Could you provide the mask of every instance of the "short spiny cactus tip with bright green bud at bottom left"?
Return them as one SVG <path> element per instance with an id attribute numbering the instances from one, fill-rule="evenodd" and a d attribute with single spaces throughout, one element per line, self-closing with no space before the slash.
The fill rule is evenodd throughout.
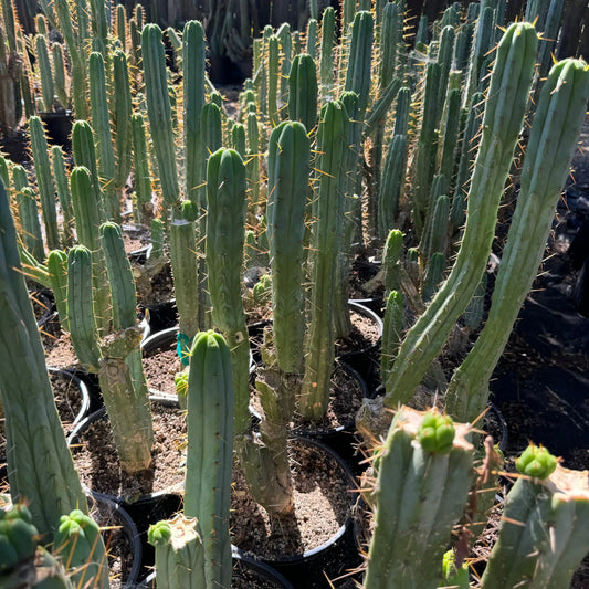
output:
<path id="1" fill-rule="evenodd" d="M 98 525 L 80 509 L 62 515 L 55 534 L 53 554 L 59 555 L 75 587 L 90 583 L 108 589 L 108 559 Z"/>

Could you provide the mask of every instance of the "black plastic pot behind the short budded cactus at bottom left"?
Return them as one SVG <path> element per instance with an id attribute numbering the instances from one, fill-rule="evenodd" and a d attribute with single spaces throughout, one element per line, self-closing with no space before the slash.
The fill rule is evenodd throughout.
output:
<path id="1" fill-rule="evenodd" d="M 92 506 L 93 502 L 94 506 Z M 103 539 L 109 554 L 113 553 L 111 548 L 113 534 L 122 534 L 124 536 L 123 546 L 120 547 L 122 554 L 115 555 L 119 557 L 122 566 L 120 587 L 122 589 L 134 589 L 137 587 L 143 566 L 143 547 L 135 522 L 117 503 L 104 498 L 97 499 L 96 497 L 90 497 L 88 503 L 91 503 L 94 519 L 104 528 L 102 533 Z"/>

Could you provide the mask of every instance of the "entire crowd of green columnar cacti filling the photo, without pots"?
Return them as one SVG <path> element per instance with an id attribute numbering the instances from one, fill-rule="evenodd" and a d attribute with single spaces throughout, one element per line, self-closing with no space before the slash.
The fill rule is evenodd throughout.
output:
<path id="1" fill-rule="evenodd" d="M 319 14 L 311 2 L 305 32 L 269 25 L 254 40 L 235 117 L 207 75 L 207 44 L 219 39 L 207 40 L 201 22 L 164 36 L 140 4 L 132 18 L 94 0 L 40 8 L 32 39 L 2 3 L 6 46 L 22 59 L 0 83 L 24 105 L 34 182 L 0 157 L 0 401 L 12 502 L 0 509 L 0 580 L 17 587 L 25 571 L 44 587 L 51 569 L 55 586 L 108 587 L 25 275 L 52 291 L 81 368 L 98 377 L 122 469 L 149 469 L 138 293 L 122 229 L 132 219 L 169 259 L 187 367 L 178 379 L 183 508 L 149 530 L 157 586 L 231 586 L 234 455 L 270 519 L 293 514 L 293 422 L 327 413 L 335 341 L 351 330 L 350 266 L 369 251 L 382 260 L 385 393 L 361 411 L 371 471 L 360 492 L 372 513 L 361 583 L 469 587 L 471 529 L 486 522 L 503 470 L 473 423 L 541 261 L 589 99 L 582 60 L 550 67 L 562 1 L 530 2 L 513 24 L 501 0 L 451 4 L 431 24 L 422 17 L 410 46 L 402 0 L 344 0 L 338 23 L 334 8 Z M 38 116 L 60 107 L 75 117 L 71 167 Z M 15 116 L 3 99 L 2 125 L 13 128 Z M 517 203 L 480 328 L 476 297 L 509 175 Z M 252 296 L 272 307 L 255 387 L 243 301 L 252 265 L 266 273 Z M 476 340 L 446 381 L 437 357 L 459 322 Z M 414 409 L 432 379 L 443 414 Z M 481 587 L 570 583 L 589 550 L 589 487 L 587 473 L 557 462 L 534 445 L 517 461 Z"/>

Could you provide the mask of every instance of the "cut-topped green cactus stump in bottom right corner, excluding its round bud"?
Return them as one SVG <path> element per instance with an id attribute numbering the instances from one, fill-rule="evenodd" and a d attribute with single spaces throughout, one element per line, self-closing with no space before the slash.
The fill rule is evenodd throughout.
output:
<path id="1" fill-rule="evenodd" d="M 516 481 L 505 501 L 483 589 L 570 587 L 589 550 L 587 474 L 557 465 L 543 481 Z"/>

